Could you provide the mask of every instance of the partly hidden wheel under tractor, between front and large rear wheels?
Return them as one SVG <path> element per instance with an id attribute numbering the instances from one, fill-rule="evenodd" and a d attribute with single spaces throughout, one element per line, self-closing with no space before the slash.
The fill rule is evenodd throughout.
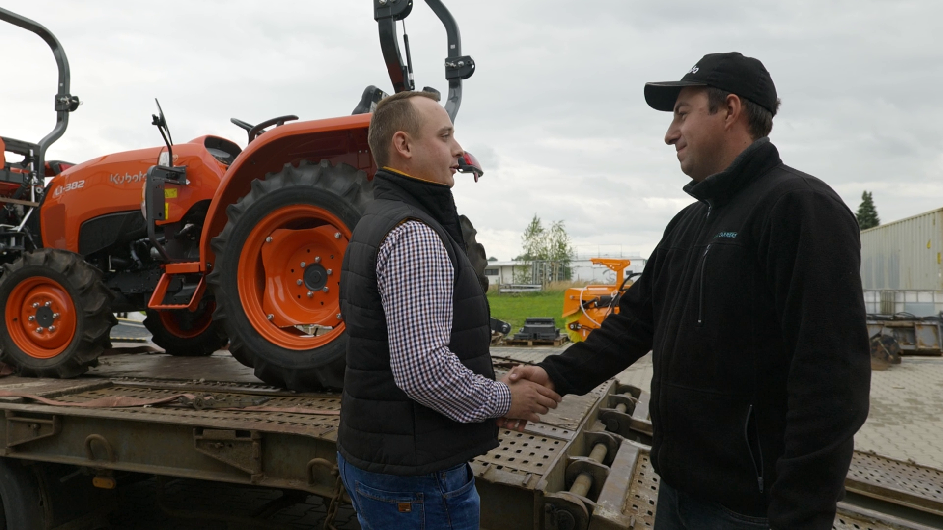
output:
<path id="1" fill-rule="evenodd" d="M 204 298 L 195 312 L 148 309 L 144 327 L 151 332 L 151 341 L 172 356 L 209 356 L 229 342 L 223 324 L 212 320 L 215 306 Z"/>

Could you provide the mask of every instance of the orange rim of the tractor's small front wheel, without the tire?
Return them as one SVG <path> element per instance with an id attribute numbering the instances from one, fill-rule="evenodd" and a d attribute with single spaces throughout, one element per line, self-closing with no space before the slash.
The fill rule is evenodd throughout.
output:
<path id="1" fill-rule="evenodd" d="M 5 315 L 10 339 L 27 356 L 58 356 L 75 335 L 72 297 L 52 278 L 33 276 L 17 284 L 9 293 Z"/>

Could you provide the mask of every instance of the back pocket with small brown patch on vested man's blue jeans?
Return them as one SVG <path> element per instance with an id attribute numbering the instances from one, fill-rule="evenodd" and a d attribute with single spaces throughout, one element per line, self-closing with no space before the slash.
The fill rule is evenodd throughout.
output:
<path id="1" fill-rule="evenodd" d="M 425 529 L 421 492 L 384 491 L 359 481 L 354 485 L 358 515 L 370 524 L 372 530 Z"/>

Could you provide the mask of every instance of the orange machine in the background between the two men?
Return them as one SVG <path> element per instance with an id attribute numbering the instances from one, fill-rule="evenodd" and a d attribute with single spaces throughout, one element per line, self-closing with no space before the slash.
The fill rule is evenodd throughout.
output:
<path id="1" fill-rule="evenodd" d="M 604 265 L 616 273 L 615 285 L 587 285 L 571 287 L 563 293 L 563 319 L 567 324 L 570 340 L 586 340 L 589 332 L 603 324 L 605 317 L 619 313 L 619 300 L 626 289 L 632 287 L 632 278 L 639 273 L 625 276 L 628 259 L 593 257 L 595 265 Z"/>

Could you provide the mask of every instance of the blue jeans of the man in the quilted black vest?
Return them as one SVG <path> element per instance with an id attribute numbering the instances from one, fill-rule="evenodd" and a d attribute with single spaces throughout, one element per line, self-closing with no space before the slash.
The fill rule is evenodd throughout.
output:
<path id="1" fill-rule="evenodd" d="M 481 498 L 467 463 L 399 476 L 365 472 L 338 454 L 338 469 L 363 530 L 478 530 Z"/>

